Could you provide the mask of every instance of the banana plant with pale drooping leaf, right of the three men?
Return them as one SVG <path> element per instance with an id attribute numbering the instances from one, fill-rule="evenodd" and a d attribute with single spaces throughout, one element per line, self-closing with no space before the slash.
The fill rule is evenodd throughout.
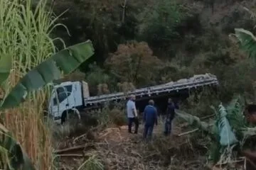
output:
<path id="1" fill-rule="evenodd" d="M 239 126 L 242 123 L 242 104 L 239 104 L 240 100 L 235 98 L 228 106 L 224 107 L 222 103 L 218 108 L 213 108 L 215 111 L 215 120 L 212 124 L 203 122 L 200 118 L 184 113 L 183 111 L 176 110 L 178 117 L 186 120 L 189 125 L 196 126 L 196 128 L 203 130 L 211 139 L 209 158 L 214 163 L 220 160 L 220 157 L 224 157 L 227 152 L 233 149 L 233 146 L 238 145 L 240 138 L 237 138 L 235 130 L 242 131 Z M 235 118 L 233 118 L 235 117 Z M 230 121 L 229 118 L 233 118 Z M 242 125 L 244 127 L 245 125 Z M 235 131 L 235 132 L 234 132 Z M 242 140 L 242 138 L 241 138 Z"/>

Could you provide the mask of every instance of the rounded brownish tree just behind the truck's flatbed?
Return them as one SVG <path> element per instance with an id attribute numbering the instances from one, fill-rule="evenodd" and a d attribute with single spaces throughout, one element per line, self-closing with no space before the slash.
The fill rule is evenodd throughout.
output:
<path id="1" fill-rule="evenodd" d="M 161 61 L 153 55 L 146 42 L 128 42 L 118 45 L 105 65 L 120 81 L 134 85 L 149 84 L 157 77 Z"/>

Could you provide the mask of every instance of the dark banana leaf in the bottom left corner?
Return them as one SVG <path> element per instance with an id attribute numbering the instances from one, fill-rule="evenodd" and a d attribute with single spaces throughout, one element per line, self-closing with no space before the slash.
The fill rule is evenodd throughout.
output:
<path id="1" fill-rule="evenodd" d="M 1 162 L 2 166 L 5 166 L 6 169 L 21 169 L 21 170 L 34 170 L 31 159 L 28 158 L 26 152 L 23 152 L 21 145 L 11 137 L 10 133 L 4 125 L 0 124 L 0 147 L 7 152 L 8 161 Z"/>

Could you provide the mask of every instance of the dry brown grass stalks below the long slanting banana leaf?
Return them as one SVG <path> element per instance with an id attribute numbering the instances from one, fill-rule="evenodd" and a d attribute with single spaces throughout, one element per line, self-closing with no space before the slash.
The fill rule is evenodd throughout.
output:
<path id="1" fill-rule="evenodd" d="M 53 159 L 51 135 L 43 123 L 40 101 L 27 101 L 19 108 L 6 111 L 4 125 L 21 143 L 38 169 L 50 169 Z"/>

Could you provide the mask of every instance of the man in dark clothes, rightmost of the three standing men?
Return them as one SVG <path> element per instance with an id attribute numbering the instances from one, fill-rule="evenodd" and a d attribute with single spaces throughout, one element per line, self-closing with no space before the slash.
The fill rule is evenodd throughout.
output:
<path id="1" fill-rule="evenodd" d="M 164 124 L 164 135 L 171 134 L 171 125 L 175 116 L 175 109 L 178 109 L 178 106 L 174 103 L 174 101 L 171 100 L 171 98 L 169 98 L 166 111 L 166 120 Z"/>

